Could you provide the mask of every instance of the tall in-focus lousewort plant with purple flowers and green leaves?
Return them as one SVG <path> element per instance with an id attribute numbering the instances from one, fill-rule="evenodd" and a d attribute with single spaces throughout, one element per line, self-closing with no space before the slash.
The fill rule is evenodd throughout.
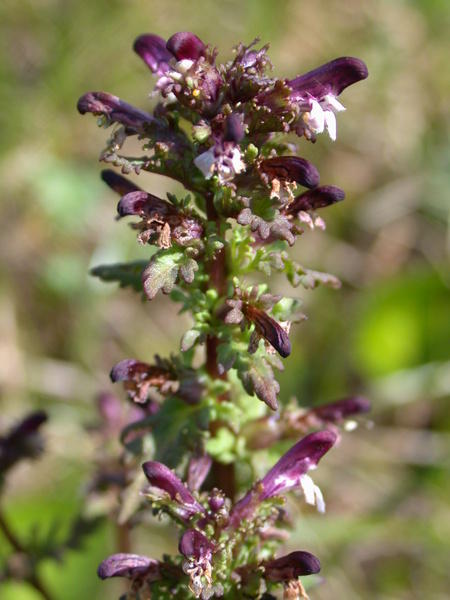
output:
<path id="1" fill-rule="evenodd" d="M 125 175 L 171 177 L 186 193 L 159 198 L 116 170 L 102 172 L 120 198 L 117 218 L 135 218 L 150 258 L 93 274 L 148 300 L 168 294 L 192 317 L 179 355 L 113 367 L 112 381 L 134 406 L 129 414 L 112 395 L 99 405 L 103 435 L 120 433 L 124 454 L 102 482 L 121 494 L 120 552 L 98 575 L 129 579 L 129 599 L 305 598 L 300 578 L 320 563 L 305 550 L 279 552 L 293 520 L 286 494 L 325 510 L 310 471 L 338 440 L 337 425 L 369 409 L 360 397 L 313 409 L 279 405 L 275 370 L 291 353 L 291 324 L 305 316 L 298 300 L 272 294 L 265 282 L 280 273 L 294 287 L 339 287 L 288 250 L 305 227 L 325 227 L 322 209 L 344 192 L 320 185 L 316 167 L 283 136 L 314 142 L 326 130 L 335 140 L 336 113 L 345 110 L 338 98 L 367 68 L 344 57 L 277 79 L 268 46 L 257 43 L 240 44 L 218 64 L 216 49 L 193 33 L 141 35 L 134 50 L 156 78 L 153 111 L 106 92 L 78 101 L 81 114 L 112 126 L 103 162 Z M 141 156 L 123 153 L 128 138 Z M 264 452 L 271 447 L 273 456 L 289 440 L 278 462 Z M 178 524 L 178 554 L 131 553 L 130 529 L 148 505 Z"/>

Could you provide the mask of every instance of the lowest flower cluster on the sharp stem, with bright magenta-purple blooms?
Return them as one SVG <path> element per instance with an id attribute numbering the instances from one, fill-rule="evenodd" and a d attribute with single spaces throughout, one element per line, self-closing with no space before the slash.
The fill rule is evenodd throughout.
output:
<path id="1" fill-rule="evenodd" d="M 182 598 L 182 590 L 187 586 L 196 598 L 203 600 L 212 596 L 231 597 L 227 594 L 233 589 L 242 597 L 255 597 L 255 593 L 259 597 L 280 583 L 286 589 L 292 588 L 299 576 L 318 573 L 320 562 L 305 551 L 265 558 L 273 540 L 283 537 L 285 509 L 281 503 L 273 504 L 270 500 L 282 500 L 286 492 L 299 488 L 307 503 L 316 504 L 323 511 L 322 493 L 308 471 L 317 467 L 335 441 L 336 434 L 331 431 L 303 438 L 234 505 L 216 488 L 196 493 L 202 478 L 194 485 L 191 482 L 193 489 L 189 489 L 163 464 L 144 463 L 142 468 L 150 483 L 144 495 L 157 510 L 173 516 L 183 530 L 178 545 L 180 556 L 160 561 L 135 554 L 114 554 L 101 563 L 99 576 L 131 579 L 136 598 L 144 590 L 151 595 L 153 589 Z M 206 474 L 203 472 L 202 476 Z M 248 562 L 242 564 L 238 557 L 244 553 Z M 255 589 L 255 572 L 260 575 L 258 589 Z"/>

